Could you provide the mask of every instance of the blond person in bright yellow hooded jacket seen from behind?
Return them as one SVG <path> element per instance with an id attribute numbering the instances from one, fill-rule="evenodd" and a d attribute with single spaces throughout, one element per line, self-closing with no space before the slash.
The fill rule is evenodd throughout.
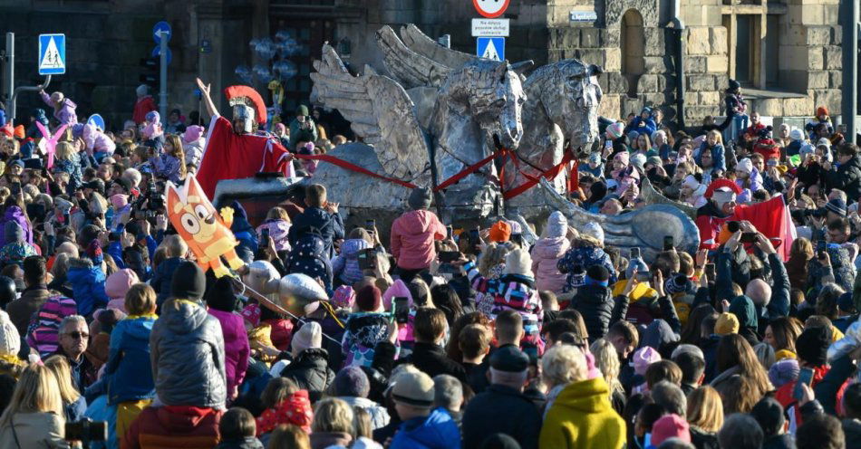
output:
<path id="1" fill-rule="evenodd" d="M 555 346 L 542 359 L 542 368 L 544 375 L 551 377 L 551 384 L 567 382 L 548 395 L 547 416 L 538 440 L 540 449 L 624 447 L 624 420 L 610 404 L 610 390 L 604 377 L 586 378 L 592 376 L 588 375 L 585 355 L 580 349 Z"/>

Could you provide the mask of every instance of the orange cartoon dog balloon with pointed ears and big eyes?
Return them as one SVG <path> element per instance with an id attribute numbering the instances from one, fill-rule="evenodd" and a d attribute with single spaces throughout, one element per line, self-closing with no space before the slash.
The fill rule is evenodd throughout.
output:
<path id="1" fill-rule="evenodd" d="M 208 268 L 219 278 L 229 275 L 227 267 L 221 263 L 221 256 L 233 270 L 245 263 L 236 252 L 236 237 L 230 232 L 233 224 L 233 209 L 222 207 L 218 215 L 209 198 L 203 193 L 197 178 L 186 177 L 185 186 L 178 188 L 168 182 L 168 216 L 182 240 L 189 244 L 191 252 L 198 259 L 204 272 Z"/>

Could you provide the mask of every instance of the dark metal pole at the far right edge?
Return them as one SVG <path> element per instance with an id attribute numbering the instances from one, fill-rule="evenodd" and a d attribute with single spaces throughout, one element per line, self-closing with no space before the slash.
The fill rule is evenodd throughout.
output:
<path id="1" fill-rule="evenodd" d="M 843 0 L 843 123 L 846 141 L 856 142 L 858 101 L 858 0 Z"/>

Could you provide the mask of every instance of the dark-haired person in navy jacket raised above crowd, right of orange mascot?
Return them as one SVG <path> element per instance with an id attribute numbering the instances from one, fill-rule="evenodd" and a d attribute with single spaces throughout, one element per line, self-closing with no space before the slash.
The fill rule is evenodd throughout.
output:
<path id="1" fill-rule="evenodd" d="M 319 184 L 305 190 L 305 204 L 308 208 L 295 216 L 287 238 L 291 245 L 295 245 L 302 234 L 315 229 L 323 236 L 325 253 L 331 259 L 334 257 L 334 241 L 343 239 L 343 219 L 338 215 L 338 205 L 326 200 L 326 188 Z"/>

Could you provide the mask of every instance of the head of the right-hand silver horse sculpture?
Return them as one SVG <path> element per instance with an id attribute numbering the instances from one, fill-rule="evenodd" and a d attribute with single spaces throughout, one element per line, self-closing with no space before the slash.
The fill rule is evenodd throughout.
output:
<path id="1" fill-rule="evenodd" d="M 577 157 L 592 149 L 598 136 L 598 107 L 603 95 L 596 65 L 574 59 L 545 65 L 531 75 L 524 88 L 550 122 L 556 124 Z"/>

